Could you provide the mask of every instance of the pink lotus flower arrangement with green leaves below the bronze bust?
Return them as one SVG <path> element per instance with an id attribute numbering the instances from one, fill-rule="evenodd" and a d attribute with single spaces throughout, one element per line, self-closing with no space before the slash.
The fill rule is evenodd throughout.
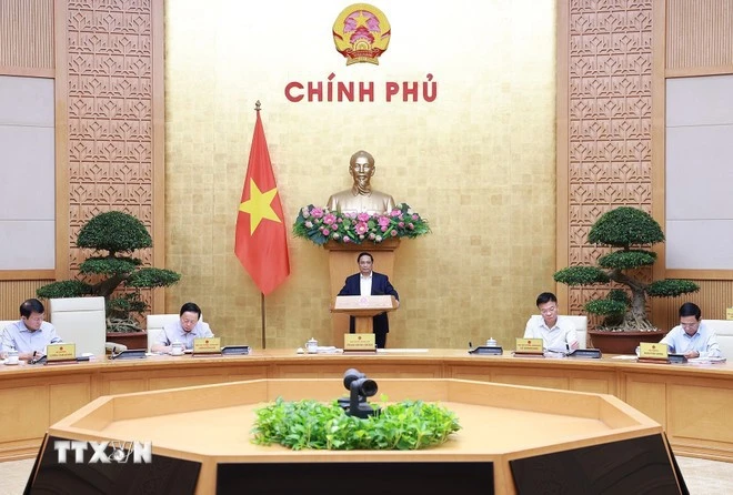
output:
<path id="1" fill-rule="evenodd" d="M 398 204 L 389 213 L 341 213 L 327 208 L 303 206 L 293 224 L 293 234 L 318 245 L 327 241 L 379 244 L 385 239 L 413 239 L 430 233 L 428 221 L 409 204 Z"/>

